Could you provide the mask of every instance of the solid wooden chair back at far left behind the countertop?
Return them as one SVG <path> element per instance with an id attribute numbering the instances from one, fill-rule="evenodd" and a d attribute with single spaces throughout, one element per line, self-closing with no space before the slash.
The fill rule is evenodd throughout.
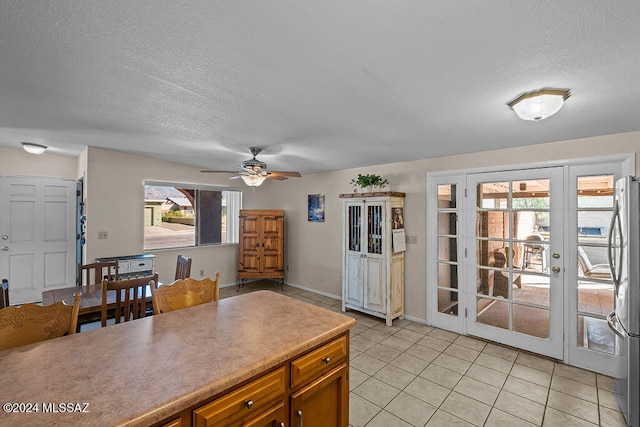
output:
<path id="1" fill-rule="evenodd" d="M 79 310 L 80 292 L 74 294 L 72 306 L 57 302 L 44 307 L 23 304 L 1 309 L 0 350 L 75 334 Z"/>

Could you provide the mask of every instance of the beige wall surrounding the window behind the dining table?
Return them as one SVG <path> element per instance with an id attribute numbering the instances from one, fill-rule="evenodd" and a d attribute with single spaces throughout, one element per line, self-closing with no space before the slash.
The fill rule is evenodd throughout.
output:
<path id="1" fill-rule="evenodd" d="M 89 147 L 85 181 L 87 261 L 144 252 L 145 180 L 229 186 L 224 175 L 203 174 L 193 166 Z M 99 231 L 106 231 L 109 237 L 98 240 Z M 193 258 L 192 277 L 214 277 L 220 271 L 220 283 L 224 285 L 235 283 L 237 250 L 237 245 L 225 245 L 149 252 L 156 255 L 156 271 L 163 283 L 173 281 L 177 255 L 183 254 Z"/>

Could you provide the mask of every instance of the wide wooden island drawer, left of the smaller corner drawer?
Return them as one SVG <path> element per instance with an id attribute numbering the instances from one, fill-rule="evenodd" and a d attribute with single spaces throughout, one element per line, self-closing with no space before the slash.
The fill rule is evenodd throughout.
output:
<path id="1" fill-rule="evenodd" d="M 229 426 L 250 419 L 262 408 L 284 399 L 285 370 L 280 368 L 193 411 L 195 426 Z"/>

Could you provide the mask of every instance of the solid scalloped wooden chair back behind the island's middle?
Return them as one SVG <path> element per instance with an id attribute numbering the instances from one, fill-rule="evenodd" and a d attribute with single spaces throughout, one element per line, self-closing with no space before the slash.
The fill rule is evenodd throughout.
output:
<path id="1" fill-rule="evenodd" d="M 152 288 L 153 313 L 161 314 L 180 310 L 194 305 L 218 301 L 220 272 L 216 271 L 216 279 L 205 277 L 202 280 L 192 278 L 178 279 L 170 285 Z"/>

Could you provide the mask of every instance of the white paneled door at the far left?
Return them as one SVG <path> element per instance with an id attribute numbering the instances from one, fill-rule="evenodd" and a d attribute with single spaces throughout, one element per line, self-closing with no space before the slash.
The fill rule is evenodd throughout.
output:
<path id="1" fill-rule="evenodd" d="M 76 182 L 0 177 L 0 277 L 12 305 L 75 283 Z"/>

